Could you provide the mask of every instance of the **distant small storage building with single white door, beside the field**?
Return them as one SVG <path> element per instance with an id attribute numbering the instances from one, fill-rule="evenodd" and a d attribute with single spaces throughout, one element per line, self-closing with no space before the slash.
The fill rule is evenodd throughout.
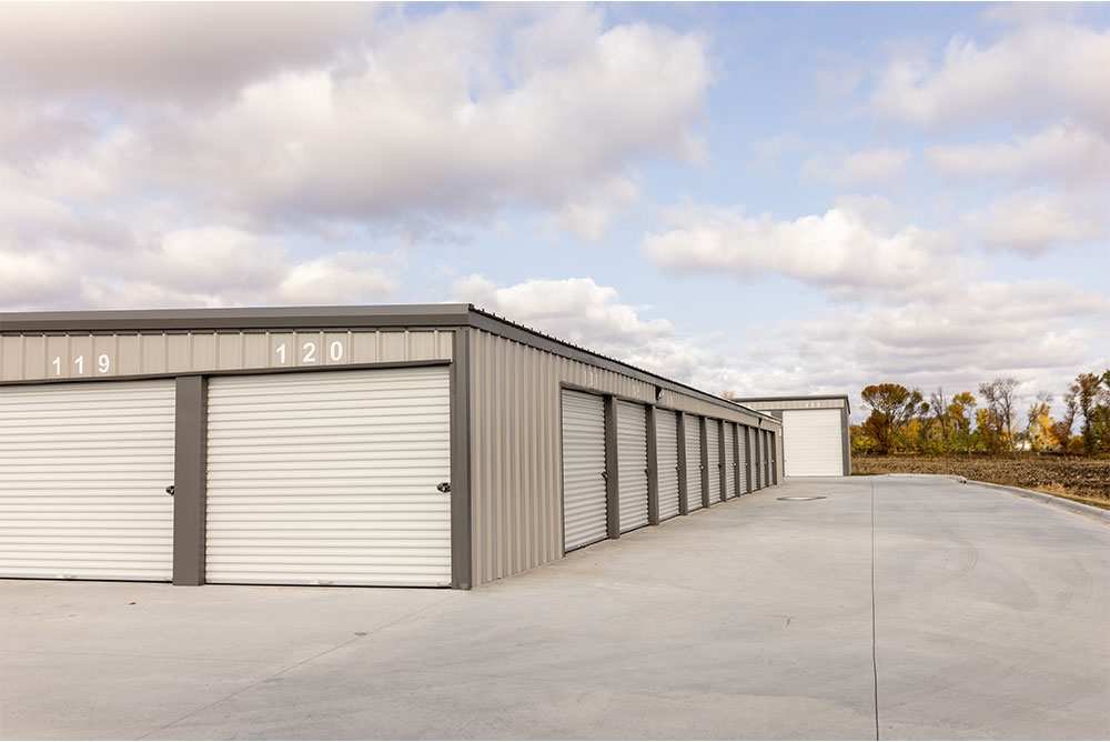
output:
<path id="1" fill-rule="evenodd" d="M 758 397 L 736 400 L 783 422 L 786 477 L 851 475 L 847 394 Z"/>

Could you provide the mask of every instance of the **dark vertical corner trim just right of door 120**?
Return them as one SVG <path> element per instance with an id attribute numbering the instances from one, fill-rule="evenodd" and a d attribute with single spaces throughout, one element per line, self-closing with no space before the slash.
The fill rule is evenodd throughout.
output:
<path id="1" fill-rule="evenodd" d="M 451 339 L 451 586 L 474 586 L 471 523 L 471 342 L 470 330 Z"/>

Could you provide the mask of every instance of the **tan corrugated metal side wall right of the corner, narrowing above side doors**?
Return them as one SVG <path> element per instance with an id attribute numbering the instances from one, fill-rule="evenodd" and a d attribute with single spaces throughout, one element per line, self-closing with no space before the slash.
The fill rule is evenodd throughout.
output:
<path id="1" fill-rule="evenodd" d="M 471 329 L 471 519 L 475 585 L 563 556 L 559 384 L 751 421 L 739 408 Z M 700 493 L 700 488 L 698 489 Z"/>

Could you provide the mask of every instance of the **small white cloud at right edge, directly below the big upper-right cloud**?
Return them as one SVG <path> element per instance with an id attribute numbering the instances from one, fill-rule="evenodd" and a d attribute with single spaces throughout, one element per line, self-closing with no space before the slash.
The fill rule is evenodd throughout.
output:
<path id="1" fill-rule="evenodd" d="M 991 178 L 1026 183 L 1110 181 L 1110 141 L 1091 129 L 1066 123 L 1031 137 L 1015 137 L 1007 143 L 930 147 L 925 151 L 925 160 L 934 172 L 949 181 Z"/>

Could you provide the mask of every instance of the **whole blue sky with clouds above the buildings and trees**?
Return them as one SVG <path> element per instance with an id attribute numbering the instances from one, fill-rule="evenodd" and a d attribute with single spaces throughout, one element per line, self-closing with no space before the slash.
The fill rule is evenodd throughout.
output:
<path id="1" fill-rule="evenodd" d="M 1110 368 L 1107 3 L 0 4 L 0 309 L 468 302 L 705 391 Z"/>

